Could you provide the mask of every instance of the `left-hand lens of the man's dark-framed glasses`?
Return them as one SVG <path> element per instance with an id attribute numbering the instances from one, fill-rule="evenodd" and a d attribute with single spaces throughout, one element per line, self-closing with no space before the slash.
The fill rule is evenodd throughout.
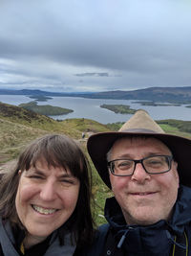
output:
<path id="1" fill-rule="evenodd" d="M 114 175 L 132 175 L 134 172 L 133 160 L 115 160 L 112 162 L 112 171 Z"/>

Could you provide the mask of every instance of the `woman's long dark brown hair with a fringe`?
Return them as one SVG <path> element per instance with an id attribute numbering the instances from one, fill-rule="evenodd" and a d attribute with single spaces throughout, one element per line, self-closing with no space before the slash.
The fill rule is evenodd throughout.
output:
<path id="1" fill-rule="evenodd" d="M 15 168 L 1 176 L 0 216 L 11 224 L 21 225 L 16 214 L 15 197 L 19 184 L 18 171 L 28 171 L 38 160 L 45 159 L 48 166 L 69 169 L 80 181 L 79 195 L 70 219 L 59 228 L 64 237 L 66 227 L 74 234 L 78 247 L 91 244 L 94 221 L 91 214 L 92 178 L 89 162 L 73 139 L 66 135 L 49 134 L 37 138 L 20 154 Z"/>

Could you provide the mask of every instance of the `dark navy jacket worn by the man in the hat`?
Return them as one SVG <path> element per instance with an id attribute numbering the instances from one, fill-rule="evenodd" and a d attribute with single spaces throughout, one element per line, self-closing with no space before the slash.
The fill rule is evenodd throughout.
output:
<path id="1" fill-rule="evenodd" d="M 191 188 L 180 186 L 170 221 L 127 225 L 115 198 L 106 200 L 105 218 L 108 224 L 100 227 L 94 246 L 85 255 L 191 256 Z"/>

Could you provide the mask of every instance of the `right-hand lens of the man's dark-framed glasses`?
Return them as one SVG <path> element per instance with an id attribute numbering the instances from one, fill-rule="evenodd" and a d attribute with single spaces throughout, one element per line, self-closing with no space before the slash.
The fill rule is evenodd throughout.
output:
<path id="1" fill-rule="evenodd" d="M 151 174 L 164 173 L 170 169 L 169 157 L 166 155 L 147 157 L 142 163 L 146 171 Z"/>

